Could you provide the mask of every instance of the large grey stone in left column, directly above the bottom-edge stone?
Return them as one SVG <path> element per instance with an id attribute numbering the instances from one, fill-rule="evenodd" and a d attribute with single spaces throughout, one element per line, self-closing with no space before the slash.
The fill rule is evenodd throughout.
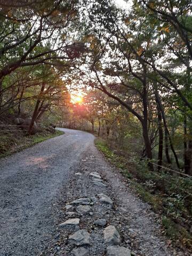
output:
<path id="1" fill-rule="evenodd" d="M 73 235 L 69 236 L 69 243 L 77 246 L 89 245 L 90 234 L 85 230 L 81 229 L 76 231 Z"/>

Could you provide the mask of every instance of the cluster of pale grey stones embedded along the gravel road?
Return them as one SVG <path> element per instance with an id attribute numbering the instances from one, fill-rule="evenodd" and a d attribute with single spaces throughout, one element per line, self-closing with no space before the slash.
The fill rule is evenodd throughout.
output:
<path id="1" fill-rule="evenodd" d="M 101 179 L 101 176 L 98 173 L 90 173 L 89 176 L 92 178 L 93 184 L 96 186 L 103 186 L 106 187 L 105 183 Z M 90 255 L 88 247 L 91 246 L 90 244 L 90 233 L 86 229 L 81 229 L 79 225 L 83 222 L 83 217 L 85 215 L 92 216 L 92 205 L 95 203 L 100 202 L 108 207 L 109 211 L 113 207 L 113 201 L 111 198 L 103 193 L 97 194 L 92 198 L 78 198 L 75 201 L 67 204 L 66 208 L 66 215 L 70 215 L 68 210 L 73 209 L 71 211 L 71 215 L 77 215 L 76 218 L 69 218 L 65 222 L 59 225 L 59 228 L 68 228 L 74 227 L 78 229 L 68 237 L 68 243 L 74 247 L 71 250 L 72 255 L 74 256 L 86 256 Z M 81 220 L 77 218 L 81 216 Z M 93 217 L 94 218 L 94 217 Z M 93 219 L 92 218 L 92 219 Z M 92 220 L 93 228 L 97 230 L 97 227 L 103 229 L 102 231 L 102 239 L 103 244 L 106 246 L 106 255 L 107 256 L 131 256 L 131 251 L 124 246 L 119 246 L 121 244 L 121 236 L 119 235 L 118 230 L 114 225 L 107 225 L 106 219 L 99 218 Z M 108 223 L 109 224 L 109 223 Z M 97 243 L 97 241 L 95 242 Z M 87 247 L 88 246 L 88 247 Z"/>

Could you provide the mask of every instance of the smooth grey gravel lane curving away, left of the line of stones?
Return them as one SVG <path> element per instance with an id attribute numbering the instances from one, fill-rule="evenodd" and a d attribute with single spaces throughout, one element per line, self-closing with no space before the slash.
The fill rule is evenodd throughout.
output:
<path id="1" fill-rule="evenodd" d="M 37 255 L 50 239 L 51 205 L 94 145 L 90 133 L 60 130 L 65 134 L 0 161 L 1 256 Z"/>

